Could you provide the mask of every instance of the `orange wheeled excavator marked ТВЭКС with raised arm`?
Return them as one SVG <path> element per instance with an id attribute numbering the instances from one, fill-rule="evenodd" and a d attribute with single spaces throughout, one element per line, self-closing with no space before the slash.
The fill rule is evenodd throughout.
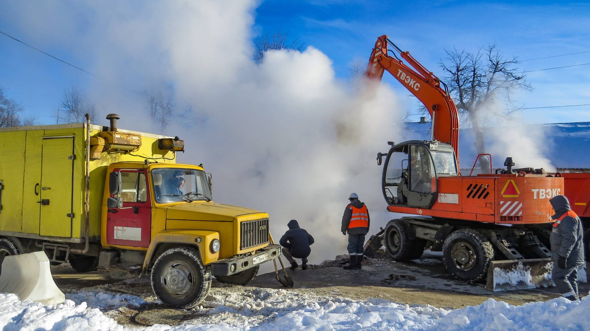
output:
<path id="1" fill-rule="evenodd" d="M 535 229 L 552 223 L 549 199 L 562 194 L 563 178 L 513 170 L 512 158 L 493 173 L 489 154 L 478 155 L 463 176 L 457 107 L 444 82 L 382 35 L 366 77 L 381 81 L 385 71 L 428 108 L 432 129 L 428 141 L 390 141 L 389 151 L 378 154 L 387 210 L 411 216 L 389 221 L 365 244 L 366 253 L 385 246 L 392 259 L 404 261 L 425 249 L 442 251 L 448 272 L 467 282 L 487 279 L 489 290 L 552 286 L 551 253 Z M 482 157 L 490 169 L 471 176 Z"/>

